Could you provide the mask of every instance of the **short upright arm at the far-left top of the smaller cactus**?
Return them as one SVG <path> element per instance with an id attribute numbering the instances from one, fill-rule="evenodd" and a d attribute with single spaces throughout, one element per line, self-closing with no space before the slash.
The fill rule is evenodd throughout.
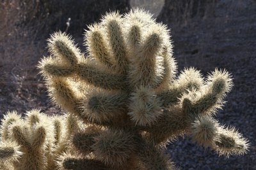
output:
<path id="1" fill-rule="evenodd" d="M 4 115 L 4 118 L 2 119 L 2 124 L 0 126 L 1 140 L 10 139 L 10 136 L 8 136 L 8 127 L 10 127 L 12 123 L 17 122 L 20 119 L 21 116 L 18 115 L 17 111 L 8 111 L 6 115 Z"/>

